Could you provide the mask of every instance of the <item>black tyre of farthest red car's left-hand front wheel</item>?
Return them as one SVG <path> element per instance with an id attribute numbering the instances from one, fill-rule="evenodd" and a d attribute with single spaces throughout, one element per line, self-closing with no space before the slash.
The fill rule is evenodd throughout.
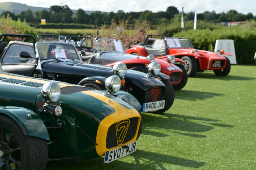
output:
<path id="1" fill-rule="evenodd" d="M 186 64 L 182 64 L 187 71 L 188 77 L 193 77 L 196 74 L 197 64 L 194 57 L 184 56 L 181 58 Z"/>

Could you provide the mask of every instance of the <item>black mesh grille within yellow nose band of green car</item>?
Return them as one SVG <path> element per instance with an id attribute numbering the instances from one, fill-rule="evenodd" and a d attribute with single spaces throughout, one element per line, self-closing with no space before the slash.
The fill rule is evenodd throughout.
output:
<path id="1" fill-rule="evenodd" d="M 124 138 L 124 141 L 122 143 L 129 142 L 130 140 L 132 140 L 134 138 L 134 136 L 136 134 L 138 118 L 137 117 L 130 118 L 129 120 L 130 120 L 130 124 L 129 124 L 128 130 L 127 130 L 126 136 Z M 126 120 L 123 120 L 123 121 L 126 121 Z M 107 140 L 106 140 L 106 148 L 107 149 L 119 146 L 117 143 L 116 125 L 117 125 L 117 123 L 112 124 L 109 127 L 109 130 L 107 133 Z M 121 131 L 122 131 L 122 129 L 118 132 L 118 137 L 121 134 Z"/>

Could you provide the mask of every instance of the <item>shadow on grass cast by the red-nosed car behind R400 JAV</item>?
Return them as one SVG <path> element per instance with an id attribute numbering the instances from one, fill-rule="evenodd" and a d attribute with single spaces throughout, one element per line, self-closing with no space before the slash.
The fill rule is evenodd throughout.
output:
<path id="1" fill-rule="evenodd" d="M 213 97 L 223 96 L 224 94 L 220 93 L 211 93 L 211 92 L 200 92 L 200 91 L 192 91 L 192 90 L 176 90 L 175 91 L 175 99 L 181 100 L 205 100 Z"/>

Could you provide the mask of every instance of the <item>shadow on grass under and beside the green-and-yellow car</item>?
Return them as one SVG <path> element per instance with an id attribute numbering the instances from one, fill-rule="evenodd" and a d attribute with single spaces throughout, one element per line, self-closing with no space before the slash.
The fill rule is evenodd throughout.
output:
<path id="1" fill-rule="evenodd" d="M 193 161 L 189 159 L 153 153 L 143 150 L 137 150 L 136 152 L 130 154 L 130 158 L 133 157 L 135 162 L 128 158 L 130 162 L 123 162 L 121 160 L 116 160 L 111 163 L 103 165 L 104 158 L 94 158 L 90 160 L 61 160 L 61 161 L 51 161 L 47 163 L 46 170 L 98 170 L 98 169 L 108 169 L 108 170 L 154 170 L 161 169 L 167 170 L 165 164 L 173 164 L 182 167 L 200 168 L 205 165 L 204 162 Z"/>

